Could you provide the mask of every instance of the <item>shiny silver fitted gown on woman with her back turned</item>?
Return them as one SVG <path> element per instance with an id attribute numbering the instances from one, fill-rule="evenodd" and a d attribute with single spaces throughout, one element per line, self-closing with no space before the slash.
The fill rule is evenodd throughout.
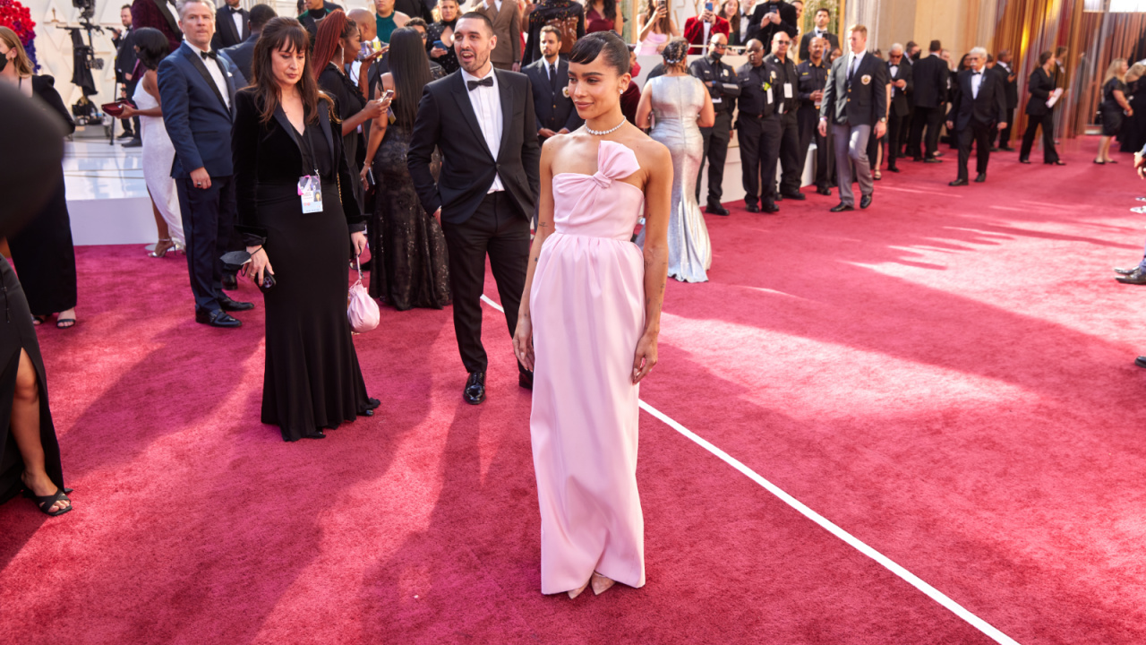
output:
<path id="1" fill-rule="evenodd" d="M 682 282 L 706 282 L 713 264 L 708 227 L 697 203 L 697 176 L 704 157 L 697 116 L 705 106 L 704 84 L 691 76 L 658 76 L 652 86 L 650 133 L 673 154 L 673 211 L 668 220 L 668 274 Z M 637 238 L 644 246 L 644 232 Z"/>

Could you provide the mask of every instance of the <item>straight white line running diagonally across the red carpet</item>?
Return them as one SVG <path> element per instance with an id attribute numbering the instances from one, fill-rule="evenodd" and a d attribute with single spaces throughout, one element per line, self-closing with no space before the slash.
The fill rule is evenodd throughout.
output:
<path id="1" fill-rule="evenodd" d="M 484 300 L 486 302 L 486 304 L 488 304 L 489 306 L 496 309 L 497 311 L 501 311 L 502 313 L 505 312 L 505 310 L 502 309 L 502 306 L 500 304 L 497 304 L 496 302 L 494 302 L 494 301 L 489 300 L 488 297 L 486 297 L 485 294 L 481 294 L 481 300 Z M 639 405 L 641 405 L 641 407 L 645 412 L 652 414 L 657 419 L 660 419 L 668 427 L 673 428 L 674 430 L 676 430 L 676 432 L 681 433 L 682 435 L 684 435 L 685 437 L 690 438 L 693 443 L 696 443 L 700 448 L 704 448 L 708 452 L 712 452 L 713 454 L 715 454 L 717 458 L 720 458 L 722 461 L 724 461 L 729 466 L 732 466 L 737 471 L 740 471 L 741 474 L 744 474 L 749 480 L 752 480 L 752 481 L 756 482 L 758 484 L 760 484 L 761 487 L 763 487 L 764 490 L 767 490 L 768 492 L 775 495 L 777 498 L 779 498 L 780 502 L 787 504 L 792 508 L 795 508 L 801 515 L 803 515 L 804 518 L 808 518 L 809 520 L 816 522 L 817 524 L 819 524 L 821 528 L 823 528 L 827 533 L 834 535 L 835 537 L 842 539 L 843 542 L 846 542 L 847 544 L 849 544 L 856 551 L 863 553 L 864 555 L 871 558 L 872 560 L 876 560 L 884 568 L 886 568 L 887 570 L 892 572 L 893 574 L 900 576 L 901 578 L 903 578 L 904 581 L 906 581 L 909 584 L 911 584 L 911 586 L 915 586 L 919 591 L 923 591 L 932 600 L 935 600 L 940 605 L 947 607 L 951 613 L 953 613 L 955 615 L 959 616 L 960 619 L 963 619 L 964 621 L 966 621 L 967 623 L 970 623 L 972 627 L 974 627 L 979 631 L 986 634 L 989 638 L 991 638 L 996 643 L 1002 643 L 1004 645 L 1019 645 L 1018 642 L 1015 642 L 1013 638 L 1011 638 L 1010 636 L 1003 634 L 1002 631 L 999 631 L 998 629 L 996 629 L 995 627 L 992 627 L 990 623 L 988 623 L 983 619 L 981 619 L 981 617 L 976 616 L 975 614 L 971 613 L 963 605 L 956 603 L 955 600 L 951 600 L 943 592 L 941 592 L 940 590 L 935 589 L 934 586 L 932 586 L 932 585 L 927 584 L 926 582 L 924 582 L 923 580 L 920 580 L 919 576 L 917 576 L 916 574 L 913 574 L 913 573 L 909 572 L 908 569 L 901 567 L 900 565 L 895 564 L 887 555 L 884 555 L 879 551 L 876 551 L 871 546 L 868 546 L 859 538 L 855 537 L 854 535 L 849 534 L 848 531 L 846 531 L 846 530 L 841 529 L 840 527 L 835 526 L 834 523 L 832 523 L 832 521 L 829 520 L 827 518 L 825 518 L 825 516 L 821 515 L 819 513 L 813 511 L 811 508 L 804 506 L 803 503 L 801 503 L 799 499 L 796 499 L 796 498 L 792 497 L 791 495 L 784 492 L 779 487 L 777 487 L 772 482 L 766 480 L 764 477 L 760 476 L 760 474 L 758 474 L 752 468 L 749 468 L 749 467 L 745 466 L 744 464 L 741 464 L 738 459 L 736 459 L 731 454 L 729 454 L 729 453 L 724 452 L 723 450 L 716 448 L 715 445 L 713 445 L 712 443 L 709 443 L 704 437 L 697 435 L 692 430 L 690 430 L 690 429 L 685 428 L 684 426 L 682 426 L 681 423 L 676 422 L 672 417 L 669 417 L 669 415 L 665 414 L 664 412 L 661 412 L 660 410 L 657 410 L 656 407 L 649 405 L 644 401 L 641 401 Z"/>

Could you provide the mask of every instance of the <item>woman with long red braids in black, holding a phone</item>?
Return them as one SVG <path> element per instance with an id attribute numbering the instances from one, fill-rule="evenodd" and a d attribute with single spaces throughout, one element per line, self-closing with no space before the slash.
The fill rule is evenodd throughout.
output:
<path id="1" fill-rule="evenodd" d="M 346 64 L 354 62 L 361 46 L 358 24 L 347 20 L 342 9 L 331 11 L 319 23 L 314 60 L 320 64 L 312 69 L 319 76 L 319 90 L 335 100 L 335 116 L 343 122 L 343 153 L 354 177 L 359 174 L 359 154 L 364 148 L 360 141 L 359 126 L 383 114 L 382 103 L 367 101 L 362 90 L 351 83 L 346 73 Z M 321 64 L 322 61 L 325 64 Z M 354 182 L 354 197 L 360 204 L 366 203 L 364 191 L 358 181 Z"/>

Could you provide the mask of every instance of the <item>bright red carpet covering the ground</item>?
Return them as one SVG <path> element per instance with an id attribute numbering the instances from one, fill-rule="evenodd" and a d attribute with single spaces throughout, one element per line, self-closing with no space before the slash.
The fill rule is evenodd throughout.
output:
<path id="1" fill-rule="evenodd" d="M 709 217 L 643 398 L 1019 643 L 1144 642 L 1146 290 L 1110 266 L 1141 257 L 1146 182 L 1096 146 Z M 40 332 L 76 510 L 0 506 L 0 643 L 990 642 L 646 413 L 649 584 L 543 597 L 496 312 L 484 405 L 448 310 L 384 309 L 356 337 L 379 415 L 286 444 L 261 304 L 210 329 L 181 256 L 78 259 L 80 324 Z"/>

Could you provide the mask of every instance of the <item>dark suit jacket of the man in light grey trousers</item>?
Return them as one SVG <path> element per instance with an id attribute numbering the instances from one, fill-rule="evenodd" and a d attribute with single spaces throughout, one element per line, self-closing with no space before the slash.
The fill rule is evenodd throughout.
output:
<path id="1" fill-rule="evenodd" d="M 887 63 L 868 52 L 849 80 L 850 61 L 848 53 L 832 63 L 819 115 L 826 117 L 829 123 L 847 123 L 851 127 L 874 126 L 887 115 Z"/>

